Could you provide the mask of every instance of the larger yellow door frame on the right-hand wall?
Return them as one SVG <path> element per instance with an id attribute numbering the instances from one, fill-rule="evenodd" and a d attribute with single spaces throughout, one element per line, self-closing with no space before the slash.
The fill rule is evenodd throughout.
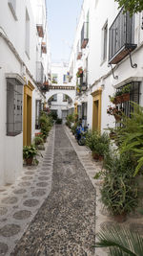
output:
<path id="1" fill-rule="evenodd" d="M 101 130 L 102 89 L 92 92 L 92 130 Z"/>

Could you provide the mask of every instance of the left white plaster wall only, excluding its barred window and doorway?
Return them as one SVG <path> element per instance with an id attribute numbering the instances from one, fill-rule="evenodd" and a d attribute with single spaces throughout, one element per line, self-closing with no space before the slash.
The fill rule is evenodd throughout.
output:
<path id="1" fill-rule="evenodd" d="M 43 5 L 45 10 L 45 2 Z M 0 185 L 4 185 L 14 182 L 23 167 L 22 129 L 16 135 L 8 134 L 7 112 L 10 102 L 7 99 L 7 81 L 16 81 L 21 88 L 31 82 L 36 89 L 32 92 L 31 138 L 35 130 L 35 100 L 41 99 L 44 102 L 44 96 L 36 85 L 36 49 L 39 46 L 39 38 L 32 1 L 2 0 L 0 6 Z M 44 60 L 45 66 L 47 62 L 47 59 Z M 48 74 L 47 67 L 45 70 Z M 22 108 L 19 107 L 23 107 L 23 97 L 21 106 L 17 105 L 17 111 L 21 111 L 19 118 L 22 122 Z M 21 126 L 23 127 L 22 123 Z"/>

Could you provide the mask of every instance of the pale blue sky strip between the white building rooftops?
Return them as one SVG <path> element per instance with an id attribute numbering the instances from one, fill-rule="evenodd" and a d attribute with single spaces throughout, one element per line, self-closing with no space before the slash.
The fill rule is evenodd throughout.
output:
<path id="1" fill-rule="evenodd" d="M 47 0 L 51 61 L 68 61 L 83 0 Z"/>

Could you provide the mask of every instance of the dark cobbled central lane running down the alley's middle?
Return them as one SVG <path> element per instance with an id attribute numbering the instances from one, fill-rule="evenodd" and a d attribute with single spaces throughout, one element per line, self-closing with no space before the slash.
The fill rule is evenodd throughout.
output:
<path id="1" fill-rule="evenodd" d="M 11 255 L 92 256 L 94 241 L 95 190 L 64 128 L 56 126 L 51 193 Z"/>

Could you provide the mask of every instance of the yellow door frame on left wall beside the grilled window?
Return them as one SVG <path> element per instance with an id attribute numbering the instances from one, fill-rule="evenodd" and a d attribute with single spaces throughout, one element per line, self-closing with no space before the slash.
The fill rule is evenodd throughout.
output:
<path id="1" fill-rule="evenodd" d="M 32 105 L 32 91 L 34 86 L 31 81 L 24 86 L 24 106 L 23 106 L 23 145 L 31 145 L 31 105 Z"/>

